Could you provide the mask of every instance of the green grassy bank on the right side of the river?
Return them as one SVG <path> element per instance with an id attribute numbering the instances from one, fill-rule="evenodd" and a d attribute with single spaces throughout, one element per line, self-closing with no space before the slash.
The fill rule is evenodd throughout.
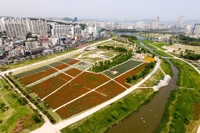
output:
<path id="1" fill-rule="evenodd" d="M 179 69 L 179 89 L 171 93 L 156 133 L 192 132 L 200 115 L 200 76 L 185 62 L 174 59 L 172 62 Z"/>

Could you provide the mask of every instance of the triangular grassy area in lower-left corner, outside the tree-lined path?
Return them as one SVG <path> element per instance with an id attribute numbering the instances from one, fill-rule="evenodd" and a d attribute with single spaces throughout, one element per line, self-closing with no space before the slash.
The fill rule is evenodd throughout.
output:
<path id="1" fill-rule="evenodd" d="M 43 124 L 37 110 L 31 110 L 28 104 L 22 104 L 23 98 L 16 94 L 14 88 L 5 78 L 0 79 L 0 132 L 20 132 L 34 130 Z M 21 121 L 19 123 L 19 121 Z M 23 131 L 22 131 L 23 132 Z"/>

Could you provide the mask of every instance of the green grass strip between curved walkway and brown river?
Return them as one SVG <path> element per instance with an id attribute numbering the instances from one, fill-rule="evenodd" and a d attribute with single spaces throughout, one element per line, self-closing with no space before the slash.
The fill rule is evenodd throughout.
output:
<path id="1" fill-rule="evenodd" d="M 137 111 L 153 93 L 153 89 L 136 90 L 93 115 L 62 129 L 61 132 L 104 133 L 111 125 Z"/>

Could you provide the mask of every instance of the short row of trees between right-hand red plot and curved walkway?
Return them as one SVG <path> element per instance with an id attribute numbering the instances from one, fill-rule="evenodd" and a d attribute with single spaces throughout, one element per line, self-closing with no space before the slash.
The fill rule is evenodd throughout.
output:
<path id="1" fill-rule="evenodd" d="M 127 78 L 126 78 L 126 82 L 127 82 L 127 83 L 131 83 L 132 80 L 137 80 L 137 79 L 140 79 L 140 78 L 144 78 L 144 77 L 149 73 L 149 71 L 150 71 L 152 68 L 154 68 L 155 64 L 156 64 L 155 62 L 149 63 L 149 64 L 146 65 L 145 68 L 144 68 L 141 72 L 139 72 L 138 74 L 134 74 L 134 75 L 131 76 L 131 77 L 127 77 Z"/>

